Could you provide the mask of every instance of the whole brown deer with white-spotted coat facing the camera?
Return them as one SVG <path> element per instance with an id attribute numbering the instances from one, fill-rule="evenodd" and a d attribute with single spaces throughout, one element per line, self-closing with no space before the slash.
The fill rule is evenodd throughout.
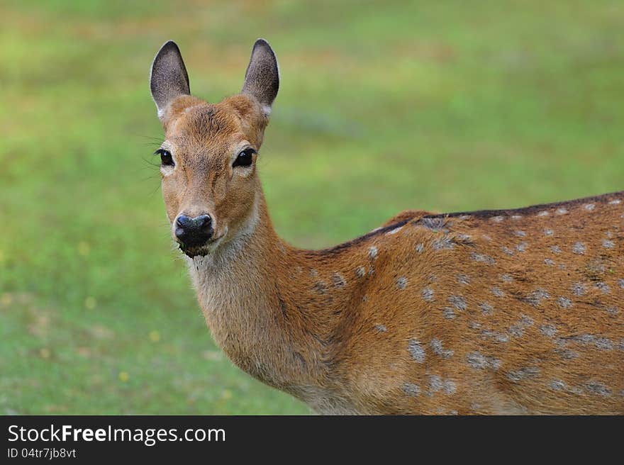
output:
<path id="1" fill-rule="evenodd" d="M 624 192 L 403 211 L 299 249 L 257 169 L 279 79 L 263 39 L 218 103 L 174 42 L 151 68 L 172 240 L 233 364 L 321 415 L 624 413 Z"/>

